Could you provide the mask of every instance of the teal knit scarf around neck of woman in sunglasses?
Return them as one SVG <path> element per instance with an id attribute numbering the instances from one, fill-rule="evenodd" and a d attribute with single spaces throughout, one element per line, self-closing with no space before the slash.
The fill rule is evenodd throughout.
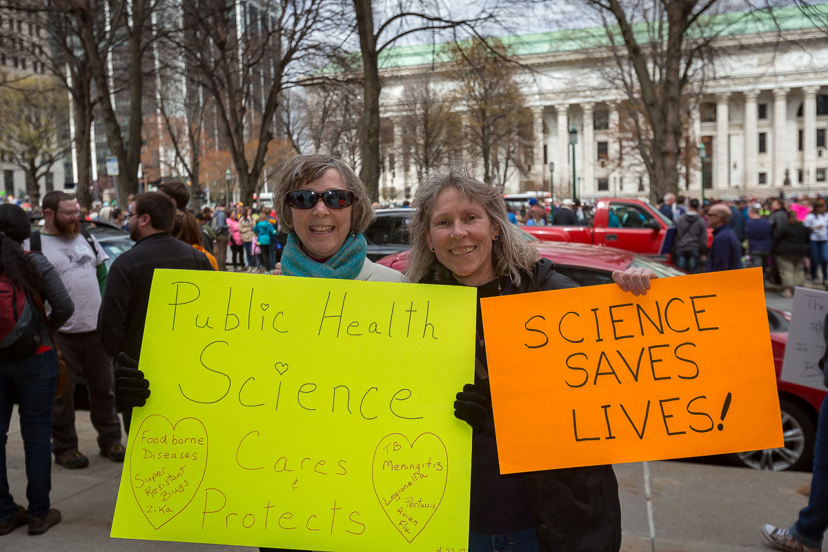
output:
<path id="1" fill-rule="evenodd" d="M 362 234 L 351 234 L 342 247 L 324 263 L 315 262 L 302 251 L 296 231 L 287 236 L 282 252 L 282 274 L 285 276 L 310 276 L 314 278 L 338 278 L 354 280 L 362 270 L 368 242 Z"/>

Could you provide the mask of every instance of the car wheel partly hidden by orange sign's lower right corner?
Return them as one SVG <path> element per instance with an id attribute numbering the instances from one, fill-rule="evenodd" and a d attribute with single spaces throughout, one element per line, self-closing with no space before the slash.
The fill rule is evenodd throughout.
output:
<path id="1" fill-rule="evenodd" d="M 780 397 L 784 446 L 778 449 L 752 450 L 733 455 L 735 463 L 753 469 L 781 472 L 811 466 L 816 432 L 811 416 L 793 401 Z"/>

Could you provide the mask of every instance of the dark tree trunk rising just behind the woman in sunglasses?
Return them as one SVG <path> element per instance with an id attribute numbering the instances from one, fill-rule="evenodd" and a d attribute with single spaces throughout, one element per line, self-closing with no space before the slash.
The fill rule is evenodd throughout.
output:
<path id="1" fill-rule="evenodd" d="M 354 0 L 363 58 L 362 167 L 359 176 L 372 201 L 379 199 L 379 67 L 377 38 L 373 34 L 371 0 Z"/>

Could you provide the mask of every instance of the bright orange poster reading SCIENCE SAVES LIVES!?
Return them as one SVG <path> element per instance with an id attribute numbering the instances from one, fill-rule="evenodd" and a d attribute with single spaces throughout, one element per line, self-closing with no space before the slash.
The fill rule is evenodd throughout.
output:
<path id="1" fill-rule="evenodd" d="M 782 446 L 758 268 L 482 309 L 501 473 Z"/>

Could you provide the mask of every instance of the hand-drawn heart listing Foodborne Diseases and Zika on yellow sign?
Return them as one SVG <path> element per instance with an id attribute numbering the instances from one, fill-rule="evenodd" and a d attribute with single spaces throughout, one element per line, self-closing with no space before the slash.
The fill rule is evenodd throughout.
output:
<path id="1" fill-rule="evenodd" d="M 129 483 L 142 514 L 158 530 L 192 502 L 207 470 L 207 428 L 149 415 L 134 434 Z"/>

